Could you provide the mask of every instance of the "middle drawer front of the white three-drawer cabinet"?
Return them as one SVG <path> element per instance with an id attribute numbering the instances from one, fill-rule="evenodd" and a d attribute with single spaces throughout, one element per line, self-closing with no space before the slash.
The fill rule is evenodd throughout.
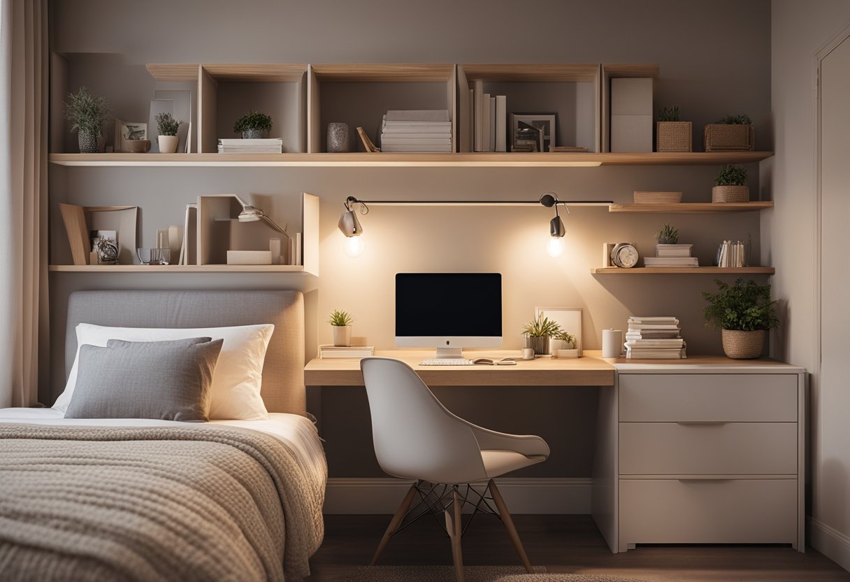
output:
<path id="1" fill-rule="evenodd" d="M 796 475 L 796 422 L 620 423 L 621 475 Z"/>

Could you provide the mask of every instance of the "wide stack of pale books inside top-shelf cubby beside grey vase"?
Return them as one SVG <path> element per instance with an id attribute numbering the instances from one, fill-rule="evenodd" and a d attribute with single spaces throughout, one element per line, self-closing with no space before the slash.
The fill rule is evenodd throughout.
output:
<path id="1" fill-rule="evenodd" d="M 381 151 L 451 151 L 449 111 L 387 111 L 381 124 Z"/>

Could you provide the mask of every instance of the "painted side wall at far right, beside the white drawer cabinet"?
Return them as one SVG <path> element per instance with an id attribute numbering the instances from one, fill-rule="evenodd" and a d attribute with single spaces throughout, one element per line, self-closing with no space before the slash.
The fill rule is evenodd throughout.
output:
<path id="1" fill-rule="evenodd" d="M 787 301 L 772 355 L 805 366 L 810 375 L 811 543 L 850 569 L 850 430 L 847 386 L 821 386 L 817 374 L 815 244 L 815 54 L 850 24 L 842 0 L 772 4 L 772 110 L 776 156 L 762 163 L 762 183 L 776 207 L 762 214 L 762 256 L 777 268 L 774 294 Z M 847 313 L 836 314 L 847 320 Z M 844 402 L 844 404 L 842 404 Z M 825 415 L 841 408 L 842 418 Z M 835 409 L 835 408 L 833 408 Z"/>

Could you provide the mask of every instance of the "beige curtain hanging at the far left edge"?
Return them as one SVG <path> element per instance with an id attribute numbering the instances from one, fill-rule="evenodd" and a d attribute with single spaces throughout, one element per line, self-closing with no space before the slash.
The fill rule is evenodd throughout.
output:
<path id="1" fill-rule="evenodd" d="M 47 30 L 47 0 L 0 0 L 0 408 L 37 402 L 48 326 Z"/>

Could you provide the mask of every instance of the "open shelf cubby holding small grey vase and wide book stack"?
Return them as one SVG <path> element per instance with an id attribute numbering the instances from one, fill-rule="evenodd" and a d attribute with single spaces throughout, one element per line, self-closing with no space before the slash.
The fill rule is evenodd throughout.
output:
<path id="1" fill-rule="evenodd" d="M 307 151 L 326 151 L 328 123 L 348 123 L 349 149 L 363 151 L 357 127 L 377 143 L 390 109 L 449 111 L 456 142 L 455 66 L 445 64 L 310 65 Z"/>

